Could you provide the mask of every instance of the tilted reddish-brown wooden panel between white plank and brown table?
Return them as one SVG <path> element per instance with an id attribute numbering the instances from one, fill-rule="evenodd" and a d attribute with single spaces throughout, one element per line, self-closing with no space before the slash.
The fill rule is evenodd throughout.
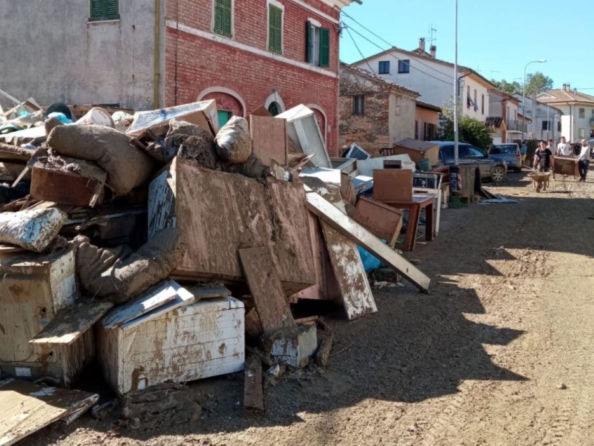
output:
<path id="1" fill-rule="evenodd" d="M 402 229 L 402 211 L 366 197 L 357 202 L 353 220 L 392 247 Z"/>

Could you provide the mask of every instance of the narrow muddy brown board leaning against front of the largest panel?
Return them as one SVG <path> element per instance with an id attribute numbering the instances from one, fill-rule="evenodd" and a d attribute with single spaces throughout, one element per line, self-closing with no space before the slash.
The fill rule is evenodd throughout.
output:
<path id="1" fill-rule="evenodd" d="M 264 332 L 296 326 L 267 247 L 240 249 L 239 257 Z"/>

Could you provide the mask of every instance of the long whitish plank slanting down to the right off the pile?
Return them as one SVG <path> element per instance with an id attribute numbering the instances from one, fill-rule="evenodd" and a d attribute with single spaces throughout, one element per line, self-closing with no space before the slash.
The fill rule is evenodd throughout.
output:
<path id="1" fill-rule="evenodd" d="M 393 249 L 382 243 L 375 235 L 371 234 L 364 227 L 359 225 L 353 219 L 340 212 L 332 203 L 324 200 L 320 195 L 313 191 L 307 193 L 307 207 L 311 212 L 326 221 L 334 229 L 340 231 L 343 235 L 352 241 L 355 241 L 366 250 L 371 252 L 378 259 L 394 268 L 402 274 L 407 280 L 412 282 L 419 290 L 425 293 L 429 291 L 429 279 L 425 274 L 419 271 L 412 263 L 399 255 Z"/>

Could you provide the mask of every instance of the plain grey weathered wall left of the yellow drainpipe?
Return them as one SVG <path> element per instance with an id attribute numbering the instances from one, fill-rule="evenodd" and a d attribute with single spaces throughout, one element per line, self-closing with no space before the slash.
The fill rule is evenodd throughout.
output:
<path id="1" fill-rule="evenodd" d="M 121 20 L 88 22 L 89 0 L 0 2 L 0 88 L 42 105 L 153 108 L 154 0 L 121 0 Z"/>

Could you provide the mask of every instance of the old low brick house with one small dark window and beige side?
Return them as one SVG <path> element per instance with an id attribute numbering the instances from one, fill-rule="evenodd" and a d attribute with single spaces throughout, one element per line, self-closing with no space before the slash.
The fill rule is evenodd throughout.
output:
<path id="1" fill-rule="evenodd" d="M 356 143 L 372 155 L 415 137 L 419 93 L 368 71 L 340 64 L 339 145 Z"/>

